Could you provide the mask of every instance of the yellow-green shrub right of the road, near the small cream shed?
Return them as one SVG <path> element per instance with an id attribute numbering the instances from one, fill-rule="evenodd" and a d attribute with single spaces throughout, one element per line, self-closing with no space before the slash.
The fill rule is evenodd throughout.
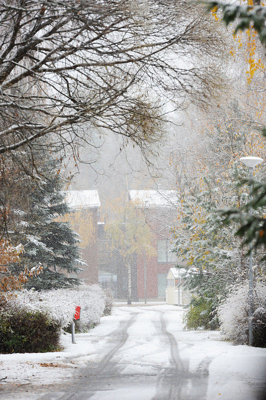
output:
<path id="1" fill-rule="evenodd" d="M 210 300 L 203 297 L 192 297 L 189 309 L 183 314 L 186 329 L 217 329 L 217 318 L 213 318 L 213 307 Z"/>

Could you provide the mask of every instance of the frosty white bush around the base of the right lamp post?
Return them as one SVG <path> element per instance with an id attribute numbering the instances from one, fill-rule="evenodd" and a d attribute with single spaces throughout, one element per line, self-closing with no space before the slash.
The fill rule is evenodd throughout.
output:
<path id="1" fill-rule="evenodd" d="M 254 308 L 266 308 L 266 286 L 257 283 Z M 226 340 L 235 344 L 248 343 L 248 284 L 235 284 L 217 307 L 220 330 Z"/>

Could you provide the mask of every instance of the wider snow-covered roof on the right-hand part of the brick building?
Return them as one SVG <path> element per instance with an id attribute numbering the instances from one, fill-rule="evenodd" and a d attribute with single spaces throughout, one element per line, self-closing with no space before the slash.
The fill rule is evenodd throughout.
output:
<path id="1" fill-rule="evenodd" d="M 178 203 L 175 190 L 129 190 L 129 199 L 142 207 L 173 207 Z"/>

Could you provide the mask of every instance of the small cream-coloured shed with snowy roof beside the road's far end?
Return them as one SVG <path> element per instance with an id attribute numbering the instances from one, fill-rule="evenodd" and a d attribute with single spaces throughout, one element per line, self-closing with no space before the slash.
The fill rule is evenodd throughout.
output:
<path id="1" fill-rule="evenodd" d="M 170 268 L 167 274 L 166 303 L 173 305 L 186 305 L 190 302 L 190 294 L 183 287 L 185 270 L 180 268 Z"/>

